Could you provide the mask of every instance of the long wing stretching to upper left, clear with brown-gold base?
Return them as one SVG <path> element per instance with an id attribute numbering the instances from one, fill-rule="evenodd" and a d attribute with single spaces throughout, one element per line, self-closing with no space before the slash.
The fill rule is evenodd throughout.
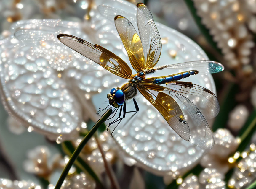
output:
<path id="1" fill-rule="evenodd" d="M 96 62 L 111 73 L 125 79 L 129 79 L 132 76 L 132 70 L 127 63 L 102 46 L 92 45 L 88 41 L 73 35 L 59 34 L 57 37 L 64 45 Z"/>

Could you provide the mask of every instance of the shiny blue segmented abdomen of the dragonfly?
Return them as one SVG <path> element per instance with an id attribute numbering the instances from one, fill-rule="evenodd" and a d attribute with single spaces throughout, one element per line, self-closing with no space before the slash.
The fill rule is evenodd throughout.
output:
<path id="1" fill-rule="evenodd" d="M 157 78 L 157 79 L 155 79 L 155 84 L 161 85 L 161 84 L 169 83 L 169 82 L 172 82 L 172 81 L 177 81 L 177 80 L 180 80 L 180 79 L 184 79 L 186 77 L 189 77 L 191 75 L 196 75 L 196 74 L 198 74 L 197 70 L 184 71 L 184 72 L 179 73 L 179 74 L 173 74 L 173 75 L 166 76 L 166 77 L 163 77 L 163 78 Z"/>

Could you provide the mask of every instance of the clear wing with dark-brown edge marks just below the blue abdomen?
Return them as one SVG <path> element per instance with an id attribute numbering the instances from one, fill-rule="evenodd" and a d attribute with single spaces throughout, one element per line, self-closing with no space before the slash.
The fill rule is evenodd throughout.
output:
<path id="1" fill-rule="evenodd" d="M 182 94 L 188 99 L 194 99 L 193 103 L 199 109 L 204 110 L 204 116 L 214 118 L 220 111 L 220 105 L 217 97 L 209 89 L 193 84 L 191 82 L 172 82 L 167 84 L 169 91 Z M 194 96 L 197 96 L 194 98 Z"/>

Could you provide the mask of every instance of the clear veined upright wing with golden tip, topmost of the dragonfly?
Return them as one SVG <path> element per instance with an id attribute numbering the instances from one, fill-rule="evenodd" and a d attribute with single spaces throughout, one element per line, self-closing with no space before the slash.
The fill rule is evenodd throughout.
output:
<path id="1" fill-rule="evenodd" d="M 144 50 L 145 68 L 153 68 L 161 54 L 161 38 L 148 7 L 143 3 L 137 4 L 137 24 Z"/>

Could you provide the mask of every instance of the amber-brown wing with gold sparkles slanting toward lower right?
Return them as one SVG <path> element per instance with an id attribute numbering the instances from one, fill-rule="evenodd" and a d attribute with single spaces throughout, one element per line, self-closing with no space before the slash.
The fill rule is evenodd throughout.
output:
<path id="1" fill-rule="evenodd" d="M 190 131 L 188 124 L 184 119 L 184 115 L 177 104 L 177 102 L 168 94 L 158 91 L 158 94 L 154 95 L 147 88 L 160 90 L 162 86 L 154 86 L 155 84 L 138 85 L 140 93 L 161 113 L 169 126 L 183 139 L 189 141 Z"/>

